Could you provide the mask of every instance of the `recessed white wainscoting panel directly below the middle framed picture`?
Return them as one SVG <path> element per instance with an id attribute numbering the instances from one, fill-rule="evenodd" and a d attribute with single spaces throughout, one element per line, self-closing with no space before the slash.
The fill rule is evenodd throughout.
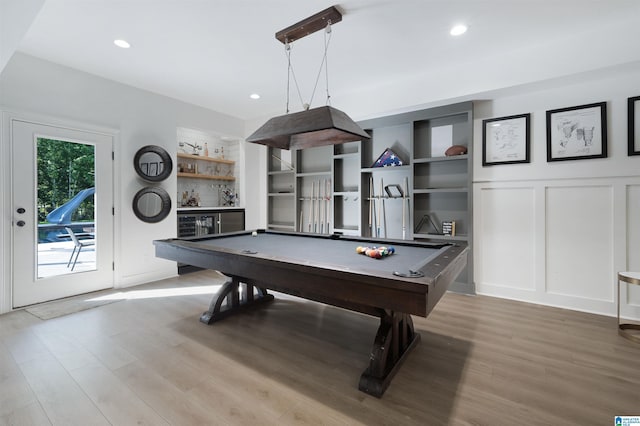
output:
<path id="1" fill-rule="evenodd" d="M 546 190 L 546 290 L 613 301 L 613 186 Z"/>

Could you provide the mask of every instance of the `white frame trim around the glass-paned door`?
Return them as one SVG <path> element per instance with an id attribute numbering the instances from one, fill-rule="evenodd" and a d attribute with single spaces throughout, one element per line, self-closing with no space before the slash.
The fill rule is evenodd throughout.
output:
<path id="1" fill-rule="evenodd" d="M 0 314 L 13 311 L 13 211 L 12 193 L 13 188 L 13 135 L 11 134 L 11 122 L 27 121 L 43 126 L 61 127 L 70 130 L 77 130 L 90 133 L 99 133 L 113 138 L 113 152 L 118 152 L 120 146 L 120 132 L 117 129 L 95 126 L 88 123 L 63 120 L 47 115 L 20 112 L 2 109 L 0 105 L 2 119 L 0 120 L 0 211 L 2 223 L 0 224 L 0 240 L 2 241 L 2 256 L 0 256 Z M 117 170 L 120 169 L 119 158 L 114 154 L 113 167 L 113 207 L 115 212 L 120 211 L 120 188 L 121 180 Z M 113 216 L 113 261 L 114 270 L 112 275 L 113 287 L 116 287 L 117 265 L 119 264 L 118 253 L 120 252 L 120 215 Z M 22 309 L 22 308 L 18 308 Z"/>

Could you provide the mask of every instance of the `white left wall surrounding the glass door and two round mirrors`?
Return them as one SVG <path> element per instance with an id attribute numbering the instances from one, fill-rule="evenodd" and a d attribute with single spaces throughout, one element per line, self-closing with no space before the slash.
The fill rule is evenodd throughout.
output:
<path id="1" fill-rule="evenodd" d="M 135 174 L 133 156 L 144 145 L 160 145 L 174 155 L 175 164 L 178 127 L 242 138 L 243 121 L 23 54 L 15 54 L 0 74 L 0 93 L 0 110 L 86 123 L 119 133 L 115 147 L 116 285 L 134 285 L 174 275 L 175 262 L 157 259 L 151 241 L 175 236 L 175 212 L 157 224 L 146 224 L 135 217 L 131 201 L 146 184 Z M 8 276 L 11 265 L 8 249 L 10 182 L 6 173 L 10 141 L 4 133 L 0 149 L 3 153 L 0 159 L 3 169 L 0 174 L 3 199 L 0 298 L 4 299 L 0 299 L 0 312 L 3 307 L 6 311 L 10 306 L 7 294 L 11 285 Z M 163 182 L 162 186 L 175 203 L 175 177 Z"/>

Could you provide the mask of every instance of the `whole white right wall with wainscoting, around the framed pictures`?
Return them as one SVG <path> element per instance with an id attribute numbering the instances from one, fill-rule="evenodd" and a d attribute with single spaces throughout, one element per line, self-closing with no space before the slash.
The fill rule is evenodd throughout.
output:
<path id="1" fill-rule="evenodd" d="M 618 271 L 640 270 L 640 156 L 627 156 L 627 98 L 640 65 L 572 76 L 474 111 L 474 262 L 478 293 L 606 315 Z M 607 102 L 608 158 L 547 162 L 546 111 Z M 531 113 L 531 163 L 482 167 L 482 120 Z M 640 318 L 640 288 L 623 316 Z"/>

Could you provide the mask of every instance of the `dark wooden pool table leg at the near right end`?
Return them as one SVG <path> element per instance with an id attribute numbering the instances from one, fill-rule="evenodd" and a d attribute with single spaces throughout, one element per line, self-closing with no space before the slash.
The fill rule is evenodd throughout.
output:
<path id="1" fill-rule="evenodd" d="M 382 310 L 369 367 L 360 376 L 358 388 L 380 398 L 419 341 L 420 335 L 413 330 L 411 315 Z"/>

